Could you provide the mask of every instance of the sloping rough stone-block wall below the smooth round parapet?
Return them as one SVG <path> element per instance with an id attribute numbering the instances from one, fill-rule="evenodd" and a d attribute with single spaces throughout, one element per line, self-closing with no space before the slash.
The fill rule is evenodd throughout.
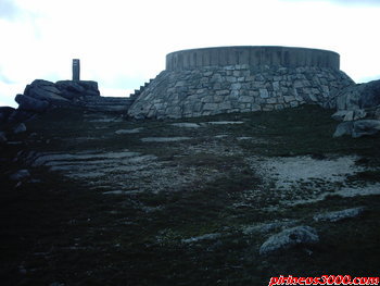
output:
<path id="1" fill-rule="evenodd" d="M 166 70 L 128 110 L 136 119 L 179 119 L 271 111 L 304 103 L 334 108 L 332 95 L 354 82 L 337 69 L 236 64 Z"/>

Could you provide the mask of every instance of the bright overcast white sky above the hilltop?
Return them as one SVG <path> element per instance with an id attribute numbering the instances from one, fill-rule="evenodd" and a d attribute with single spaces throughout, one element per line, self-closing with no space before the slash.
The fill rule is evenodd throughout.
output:
<path id="1" fill-rule="evenodd" d="M 127 96 L 166 53 L 215 46 L 337 51 L 356 83 L 380 78 L 380 0 L 0 0 L 0 105 L 36 78 Z"/>

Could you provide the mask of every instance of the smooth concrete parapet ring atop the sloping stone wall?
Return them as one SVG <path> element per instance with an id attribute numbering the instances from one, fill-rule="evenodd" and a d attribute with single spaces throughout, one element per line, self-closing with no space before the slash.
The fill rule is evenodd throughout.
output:
<path id="1" fill-rule="evenodd" d="M 166 71 L 226 65 L 309 66 L 339 70 L 340 55 L 328 50 L 271 46 L 191 49 L 166 55 Z"/>

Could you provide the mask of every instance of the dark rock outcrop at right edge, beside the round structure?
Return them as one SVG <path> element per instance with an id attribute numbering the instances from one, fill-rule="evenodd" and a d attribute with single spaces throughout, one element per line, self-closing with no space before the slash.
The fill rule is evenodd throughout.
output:
<path id="1" fill-rule="evenodd" d="M 349 135 L 358 138 L 380 130 L 380 80 L 343 88 L 333 100 L 337 112 L 332 117 L 342 121 L 333 137 Z"/>

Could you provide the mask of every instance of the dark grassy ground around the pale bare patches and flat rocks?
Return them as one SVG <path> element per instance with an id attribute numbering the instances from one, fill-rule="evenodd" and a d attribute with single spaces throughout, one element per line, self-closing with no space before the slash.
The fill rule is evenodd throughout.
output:
<path id="1" fill-rule="evenodd" d="M 11 138 L 22 144 L 1 147 L 1 285 L 267 285 L 270 276 L 278 275 L 378 276 L 380 196 L 330 196 L 271 209 L 278 203 L 278 190 L 264 184 L 245 160 L 252 156 L 309 154 L 324 160 L 329 154 L 357 154 L 357 164 L 371 169 L 347 182 L 358 186 L 379 183 L 380 138 L 333 139 L 337 123 L 330 115 L 317 107 L 302 107 L 191 119 L 188 122 L 243 124 L 178 128 L 170 125 L 175 121 L 93 122 L 103 114 L 61 110 L 27 123 L 26 134 Z M 118 129 L 132 128 L 143 129 L 115 135 Z M 218 135 L 227 136 L 216 138 Z M 191 139 L 140 141 L 155 136 Z M 211 181 L 201 176 L 180 188 L 173 184 L 157 194 L 105 196 L 103 189 L 89 189 L 88 182 L 14 160 L 20 151 L 124 149 L 154 154 L 164 167 L 194 169 L 199 174 L 212 170 L 216 175 Z M 16 184 L 9 179 L 23 167 L 37 181 Z M 251 189 L 259 196 L 242 203 L 244 191 Z M 313 221 L 315 213 L 359 206 L 367 208 L 360 217 L 340 223 Z M 259 256 L 259 246 L 280 229 L 252 235 L 242 231 L 245 225 L 284 220 L 315 227 L 320 244 L 308 251 L 300 248 Z M 219 236 L 186 243 L 206 234 Z"/>

